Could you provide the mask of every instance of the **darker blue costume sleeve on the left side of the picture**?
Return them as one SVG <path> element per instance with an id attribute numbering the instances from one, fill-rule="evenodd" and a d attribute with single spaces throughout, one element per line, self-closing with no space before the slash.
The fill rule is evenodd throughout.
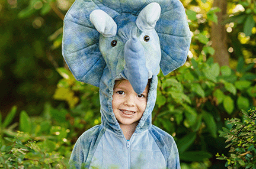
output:
<path id="1" fill-rule="evenodd" d="M 76 141 L 71 158 L 69 159 L 70 168 L 88 168 L 91 163 L 98 142 L 105 132 L 102 125 L 94 126 L 85 131 Z"/>

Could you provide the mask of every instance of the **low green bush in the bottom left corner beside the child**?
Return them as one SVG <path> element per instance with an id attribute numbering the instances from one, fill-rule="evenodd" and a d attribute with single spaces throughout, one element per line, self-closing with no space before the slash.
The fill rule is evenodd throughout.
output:
<path id="1" fill-rule="evenodd" d="M 15 109 L 5 121 L 10 121 Z M 68 168 L 71 141 L 77 139 L 74 131 L 81 125 L 80 121 L 66 121 L 68 115 L 59 121 L 56 112 L 61 111 L 46 103 L 42 117 L 29 117 L 21 111 L 18 131 L 17 123 L 8 128 L 1 126 L 0 168 Z"/>

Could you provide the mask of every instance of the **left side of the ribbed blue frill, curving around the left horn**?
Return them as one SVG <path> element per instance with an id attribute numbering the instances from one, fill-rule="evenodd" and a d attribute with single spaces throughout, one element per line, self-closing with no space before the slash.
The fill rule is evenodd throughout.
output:
<path id="1" fill-rule="evenodd" d="M 62 40 L 62 55 L 75 79 L 97 87 L 106 63 L 98 48 L 100 33 L 89 15 L 100 8 L 112 17 L 118 14 L 103 4 L 75 1 L 65 15 Z"/>

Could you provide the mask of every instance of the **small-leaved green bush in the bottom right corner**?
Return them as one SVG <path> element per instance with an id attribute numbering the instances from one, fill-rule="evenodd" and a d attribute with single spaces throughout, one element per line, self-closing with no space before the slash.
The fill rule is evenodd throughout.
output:
<path id="1" fill-rule="evenodd" d="M 228 168 L 256 168 L 256 110 L 242 110 L 242 120 L 238 118 L 227 119 L 231 129 L 224 128 L 220 131 L 220 137 L 226 138 L 230 155 L 219 153 L 219 160 L 226 160 Z"/>

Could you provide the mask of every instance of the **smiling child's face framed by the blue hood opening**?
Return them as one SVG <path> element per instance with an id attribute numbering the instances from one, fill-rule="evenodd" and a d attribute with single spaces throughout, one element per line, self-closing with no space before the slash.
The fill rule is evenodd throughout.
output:
<path id="1" fill-rule="evenodd" d="M 132 125 L 139 122 L 146 108 L 148 88 L 147 85 L 144 92 L 137 95 L 128 80 L 116 81 L 112 108 L 119 124 Z"/>

